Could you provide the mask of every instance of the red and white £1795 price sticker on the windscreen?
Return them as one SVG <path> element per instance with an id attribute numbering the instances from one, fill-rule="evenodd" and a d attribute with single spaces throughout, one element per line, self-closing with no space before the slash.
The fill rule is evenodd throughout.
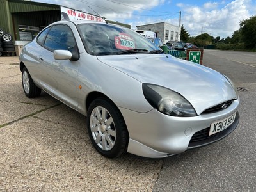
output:
<path id="1" fill-rule="evenodd" d="M 126 33 L 120 33 L 115 36 L 115 46 L 117 49 L 134 49 L 135 43 L 131 36 Z"/>

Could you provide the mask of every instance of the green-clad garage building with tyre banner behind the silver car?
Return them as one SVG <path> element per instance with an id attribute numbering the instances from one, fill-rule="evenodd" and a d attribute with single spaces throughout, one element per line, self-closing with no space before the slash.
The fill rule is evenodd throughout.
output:
<path id="1" fill-rule="evenodd" d="M 0 0 L 0 28 L 10 33 L 15 44 L 33 40 L 45 26 L 58 20 L 79 19 L 105 22 L 102 17 L 65 6 L 22 0 Z M 120 22 L 127 28 L 130 25 Z"/>

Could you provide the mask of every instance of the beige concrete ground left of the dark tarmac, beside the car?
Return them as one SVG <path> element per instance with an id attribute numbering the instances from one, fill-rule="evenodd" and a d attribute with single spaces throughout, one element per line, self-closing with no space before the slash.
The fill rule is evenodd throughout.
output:
<path id="1" fill-rule="evenodd" d="M 18 57 L 0 57 L 0 191 L 152 191 L 163 161 L 106 159 L 86 118 L 46 93 L 29 99 Z"/>

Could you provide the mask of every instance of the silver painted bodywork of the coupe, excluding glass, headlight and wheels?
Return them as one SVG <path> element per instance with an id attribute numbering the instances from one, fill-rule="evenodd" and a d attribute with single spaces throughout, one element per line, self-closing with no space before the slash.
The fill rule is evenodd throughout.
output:
<path id="1" fill-rule="evenodd" d="M 132 154 L 158 158 L 184 152 L 195 132 L 238 109 L 239 97 L 232 85 L 210 68 L 166 54 L 93 56 L 86 52 L 76 26 L 68 21 L 61 23 L 70 26 L 74 33 L 80 53 L 78 61 L 55 60 L 51 51 L 33 40 L 24 46 L 20 62 L 26 65 L 36 86 L 85 116 L 90 93 L 100 92 L 111 99 L 124 116 L 129 132 L 128 152 Z M 182 118 L 160 113 L 148 104 L 142 83 L 158 84 L 180 93 L 198 116 Z M 223 111 L 201 114 L 230 99 L 235 100 Z"/>

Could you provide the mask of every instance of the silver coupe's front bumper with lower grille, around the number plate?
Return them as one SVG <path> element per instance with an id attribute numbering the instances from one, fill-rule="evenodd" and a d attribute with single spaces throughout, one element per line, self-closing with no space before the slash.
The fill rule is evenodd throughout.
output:
<path id="1" fill-rule="evenodd" d="M 195 117 L 168 116 L 156 109 L 148 113 L 136 113 L 120 108 L 130 137 L 127 152 L 148 158 L 163 158 L 214 143 L 236 129 L 239 122 L 238 106 L 239 100 L 234 100 L 232 105 L 223 111 Z M 207 136 L 212 122 L 227 118 L 236 111 L 235 122 L 230 127 Z M 202 132 L 205 137 L 194 140 L 196 134 Z"/>

